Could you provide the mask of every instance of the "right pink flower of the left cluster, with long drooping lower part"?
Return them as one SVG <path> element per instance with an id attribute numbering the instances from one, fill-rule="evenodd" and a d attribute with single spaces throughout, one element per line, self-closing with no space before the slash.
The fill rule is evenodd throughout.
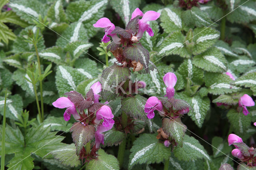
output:
<path id="1" fill-rule="evenodd" d="M 102 106 L 97 112 L 96 112 L 96 123 L 99 124 L 100 120 L 103 119 L 102 125 L 98 125 L 97 130 L 95 132 L 95 143 L 96 148 L 99 148 L 100 143 L 104 144 L 104 134 L 103 132 L 106 132 L 110 130 L 114 125 L 114 115 L 112 114 L 112 111 L 110 107 L 104 105 Z"/>

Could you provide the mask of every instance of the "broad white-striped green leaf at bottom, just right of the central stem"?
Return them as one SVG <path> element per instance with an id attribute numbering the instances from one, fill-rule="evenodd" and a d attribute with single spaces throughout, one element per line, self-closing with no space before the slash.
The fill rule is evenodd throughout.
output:
<path id="1" fill-rule="evenodd" d="M 135 164 L 152 164 L 163 162 L 164 159 L 169 158 L 171 150 L 160 143 L 154 134 L 142 134 L 133 142 L 130 149 L 129 168 Z"/>

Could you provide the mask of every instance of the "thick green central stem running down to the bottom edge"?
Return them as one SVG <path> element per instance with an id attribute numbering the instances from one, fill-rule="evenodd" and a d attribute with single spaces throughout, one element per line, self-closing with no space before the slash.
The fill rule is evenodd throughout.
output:
<path id="1" fill-rule="evenodd" d="M 122 112 L 122 127 L 125 128 L 127 126 L 127 115 Z M 123 139 L 122 143 L 119 145 L 118 148 L 118 155 L 117 155 L 117 160 L 119 162 L 120 168 L 122 167 L 122 164 L 124 162 L 124 151 L 126 148 L 126 137 Z"/>

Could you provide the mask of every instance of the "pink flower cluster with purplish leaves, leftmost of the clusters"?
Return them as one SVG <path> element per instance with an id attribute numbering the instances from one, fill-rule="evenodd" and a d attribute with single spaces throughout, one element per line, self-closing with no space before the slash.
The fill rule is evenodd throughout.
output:
<path id="1" fill-rule="evenodd" d="M 76 121 L 82 125 L 93 125 L 96 127 L 95 132 L 95 146 L 100 147 L 100 143 L 104 144 L 104 134 L 110 130 L 114 125 L 114 115 L 109 106 L 99 103 L 102 86 L 100 82 L 94 83 L 90 87 L 90 91 L 86 94 L 86 98 L 76 91 L 65 93 L 68 97 L 60 97 L 52 103 L 54 107 L 63 109 L 67 108 L 64 112 L 64 120 L 69 121 L 70 116 L 73 115 Z M 87 109 L 87 113 L 84 112 Z M 77 112 L 78 110 L 78 112 Z"/>

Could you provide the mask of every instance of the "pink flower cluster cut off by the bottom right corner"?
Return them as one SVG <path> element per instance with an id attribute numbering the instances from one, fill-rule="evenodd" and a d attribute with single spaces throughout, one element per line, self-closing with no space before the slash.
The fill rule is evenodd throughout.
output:
<path id="1" fill-rule="evenodd" d="M 228 135 L 228 145 L 234 145 L 236 148 L 232 150 L 232 155 L 241 162 L 246 162 L 247 166 L 256 166 L 256 149 L 251 147 L 249 148 L 236 134 Z"/>

